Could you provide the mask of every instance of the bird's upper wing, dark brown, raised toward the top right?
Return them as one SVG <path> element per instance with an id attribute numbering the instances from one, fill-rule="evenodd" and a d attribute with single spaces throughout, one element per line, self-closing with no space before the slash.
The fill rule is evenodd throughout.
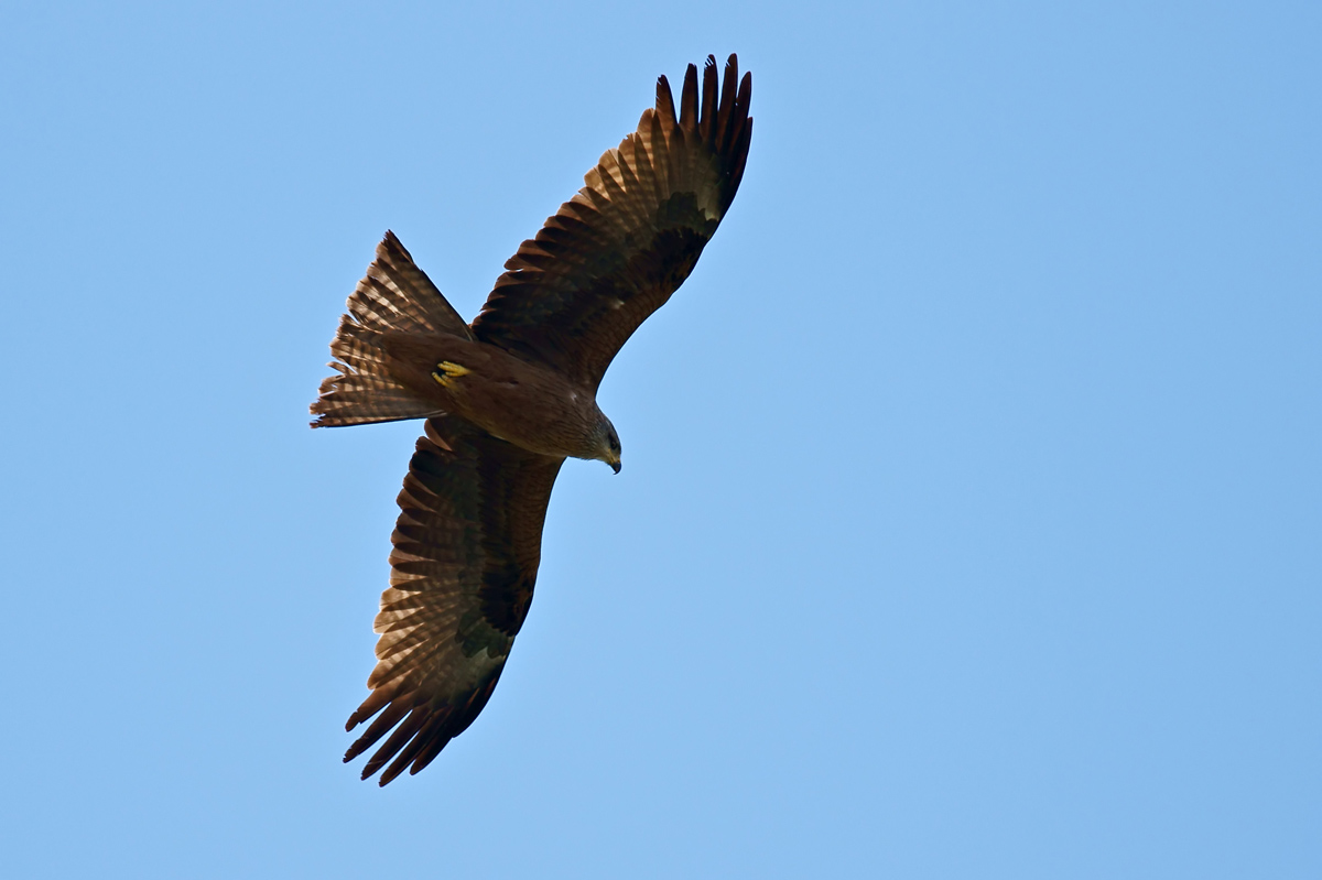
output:
<path id="1" fill-rule="evenodd" d="M 693 271 L 743 177 L 752 78 L 739 81 L 735 55 L 723 86 L 714 57 L 702 73 L 699 100 L 689 65 L 678 115 L 666 78 L 657 81 L 656 108 L 639 129 L 505 263 L 473 336 L 596 388 L 620 346 Z"/>

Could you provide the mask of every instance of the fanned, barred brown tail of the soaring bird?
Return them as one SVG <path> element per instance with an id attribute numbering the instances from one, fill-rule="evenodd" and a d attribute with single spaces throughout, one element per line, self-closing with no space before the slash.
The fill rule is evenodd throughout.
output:
<path id="1" fill-rule="evenodd" d="M 377 259 L 349 297 L 349 311 L 330 341 L 336 375 L 321 382 L 312 402 L 313 428 L 373 422 L 398 422 L 440 415 L 391 375 L 391 358 L 382 348 L 387 333 L 449 333 L 472 338 L 468 325 L 446 301 L 431 279 L 414 264 L 394 233 L 377 246 Z"/>

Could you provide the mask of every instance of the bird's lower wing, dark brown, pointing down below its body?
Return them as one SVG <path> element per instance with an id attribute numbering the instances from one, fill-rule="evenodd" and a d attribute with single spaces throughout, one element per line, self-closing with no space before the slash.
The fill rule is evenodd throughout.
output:
<path id="1" fill-rule="evenodd" d="M 406 768 L 416 773 L 486 706 L 533 600 L 546 503 L 563 461 L 459 419 L 427 420 L 399 493 L 373 690 L 346 725 L 379 712 L 345 761 L 394 728 L 362 778 L 387 762 L 381 785 Z"/>

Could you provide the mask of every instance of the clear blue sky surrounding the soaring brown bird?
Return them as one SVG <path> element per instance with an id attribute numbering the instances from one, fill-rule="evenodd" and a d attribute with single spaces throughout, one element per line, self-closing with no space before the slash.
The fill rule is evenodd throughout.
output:
<path id="1" fill-rule="evenodd" d="M 1322 876 L 1322 7 L 0 12 L 0 873 Z M 340 764 L 465 316 L 709 52 L 739 198 L 602 388 L 490 706 Z"/>

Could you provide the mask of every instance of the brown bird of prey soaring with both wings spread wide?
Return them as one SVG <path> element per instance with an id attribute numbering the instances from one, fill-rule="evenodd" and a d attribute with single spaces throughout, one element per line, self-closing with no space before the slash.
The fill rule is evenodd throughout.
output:
<path id="1" fill-rule="evenodd" d="M 564 458 L 619 473 L 598 386 L 730 207 L 751 95 L 735 55 L 723 83 L 714 57 L 701 86 L 689 65 L 678 112 L 661 77 L 656 107 L 520 246 L 472 324 L 394 234 L 377 247 L 330 342 L 336 373 L 312 404 L 313 427 L 426 419 L 390 539 L 371 692 L 345 728 L 371 720 L 345 761 L 385 737 L 364 780 L 416 773 L 486 706 L 533 600 Z"/>

